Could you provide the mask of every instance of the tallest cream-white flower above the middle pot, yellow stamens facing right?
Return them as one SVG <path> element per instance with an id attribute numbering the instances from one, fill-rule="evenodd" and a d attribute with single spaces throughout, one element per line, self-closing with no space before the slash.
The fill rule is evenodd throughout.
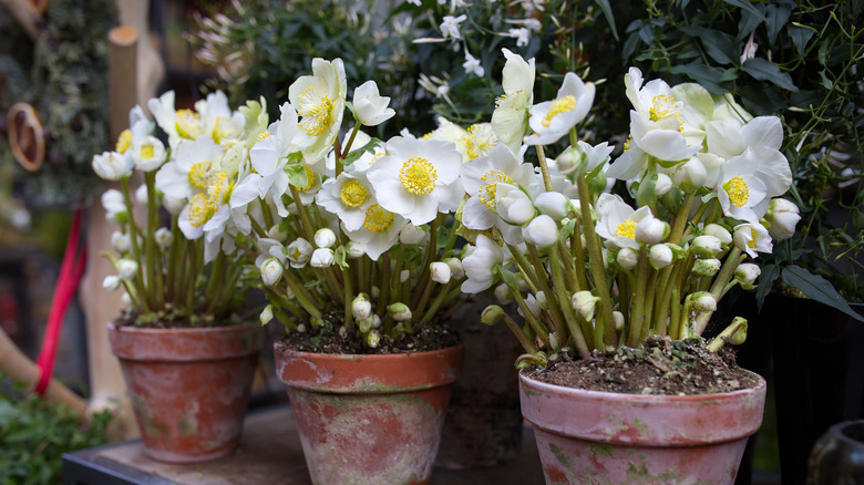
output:
<path id="1" fill-rule="evenodd" d="M 312 75 L 302 75 L 288 89 L 288 99 L 300 115 L 300 132 L 296 143 L 307 164 L 323 158 L 339 134 L 344 112 L 344 64 L 312 60 Z"/>

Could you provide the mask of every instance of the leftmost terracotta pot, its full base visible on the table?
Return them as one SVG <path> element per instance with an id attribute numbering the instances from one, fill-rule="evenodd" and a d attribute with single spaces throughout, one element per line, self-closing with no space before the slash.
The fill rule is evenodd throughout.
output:
<path id="1" fill-rule="evenodd" d="M 258 362 L 258 326 L 109 324 L 147 455 L 193 463 L 237 447 Z"/>

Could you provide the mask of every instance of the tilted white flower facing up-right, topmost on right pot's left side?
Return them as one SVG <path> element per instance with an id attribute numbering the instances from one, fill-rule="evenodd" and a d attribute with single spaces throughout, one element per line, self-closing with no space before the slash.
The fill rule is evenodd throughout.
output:
<path id="1" fill-rule="evenodd" d="M 566 135 L 585 120 L 594 103 L 594 83 L 585 83 L 575 73 L 564 75 L 564 83 L 554 101 L 534 105 L 528 124 L 534 134 L 525 137 L 526 145 L 548 145 Z"/>

